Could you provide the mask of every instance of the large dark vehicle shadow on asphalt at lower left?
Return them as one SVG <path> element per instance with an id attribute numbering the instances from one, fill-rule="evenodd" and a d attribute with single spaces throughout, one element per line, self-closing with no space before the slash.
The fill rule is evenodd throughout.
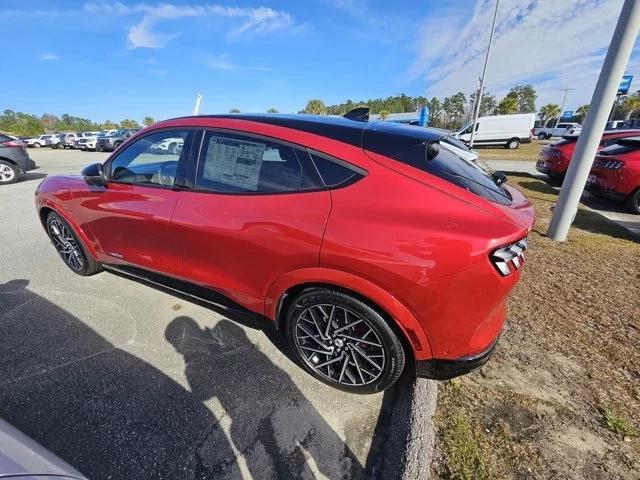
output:
<path id="1" fill-rule="evenodd" d="M 241 478 L 199 398 L 28 285 L 0 284 L 0 417 L 93 480 Z"/>

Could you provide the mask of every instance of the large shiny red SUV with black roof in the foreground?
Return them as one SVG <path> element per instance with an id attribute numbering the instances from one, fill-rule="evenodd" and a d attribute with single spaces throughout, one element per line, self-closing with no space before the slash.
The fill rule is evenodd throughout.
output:
<path id="1" fill-rule="evenodd" d="M 482 365 L 534 213 L 441 131 L 280 115 L 167 120 L 37 210 L 67 266 L 250 311 L 300 364 L 358 393 Z"/>

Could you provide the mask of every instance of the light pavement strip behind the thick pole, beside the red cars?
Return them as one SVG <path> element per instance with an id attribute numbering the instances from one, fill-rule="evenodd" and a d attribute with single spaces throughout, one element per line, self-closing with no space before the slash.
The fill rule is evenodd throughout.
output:
<path id="1" fill-rule="evenodd" d="M 536 170 L 536 162 L 522 160 L 485 160 L 485 163 L 493 170 L 505 172 L 507 175 L 513 173 L 524 173 L 532 177 L 548 181 L 549 178 Z M 560 187 L 552 185 L 555 190 L 560 191 Z M 629 213 L 622 203 L 607 200 L 605 198 L 594 197 L 588 192 L 582 194 L 580 203 L 598 212 L 603 217 L 616 222 L 632 233 L 640 237 L 640 215 Z"/>

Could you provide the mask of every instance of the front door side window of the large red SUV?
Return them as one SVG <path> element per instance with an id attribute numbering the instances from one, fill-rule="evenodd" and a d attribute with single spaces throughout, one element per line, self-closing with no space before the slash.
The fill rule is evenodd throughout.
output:
<path id="1" fill-rule="evenodd" d="M 146 135 L 127 146 L 112 161 L 109 179 L 113 182 L 172 187 L 178 161 L 186 151 L 186 130 L 162 131 Z"/>

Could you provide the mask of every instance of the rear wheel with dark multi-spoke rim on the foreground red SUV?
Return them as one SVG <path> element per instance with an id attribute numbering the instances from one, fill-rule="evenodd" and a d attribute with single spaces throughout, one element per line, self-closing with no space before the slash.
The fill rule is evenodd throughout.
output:
<path id="1" fill-rule="evenodd" d="M 302 367 L 332 387 L 380 392 L 404 369 L 402 343 L 382 315 L 338 290 L 303 291 L 289 304 L 285 328 Z"/>

